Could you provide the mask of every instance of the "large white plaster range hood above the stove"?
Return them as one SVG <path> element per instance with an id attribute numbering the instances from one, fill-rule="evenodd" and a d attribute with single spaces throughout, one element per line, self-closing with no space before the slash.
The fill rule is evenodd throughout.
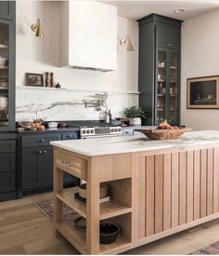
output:
<path id="1" fill-rule="evenodd" d="M 117 67 L 117 7 L 96 1 L 60 2 L 60 67 Z"/>

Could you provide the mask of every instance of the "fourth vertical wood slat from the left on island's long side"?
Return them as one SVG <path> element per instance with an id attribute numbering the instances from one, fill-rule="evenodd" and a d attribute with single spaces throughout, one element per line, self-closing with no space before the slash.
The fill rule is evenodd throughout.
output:
<path id="1" fill-rule="evenodd" d="M 171 228 L 171 154 L 163 155 L 163 230 Z"/>

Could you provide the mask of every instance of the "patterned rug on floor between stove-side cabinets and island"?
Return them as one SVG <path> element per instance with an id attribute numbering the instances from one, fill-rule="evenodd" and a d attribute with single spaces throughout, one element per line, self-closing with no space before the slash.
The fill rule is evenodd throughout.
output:
<path id="1" fill-rule="evenodd" d="M 32 201 L 32 204 L 40 211 L 42 211 L 51 222 L 53 221 L 53 199 L 46 199 L 36 202 Z M 63 216 L 68 217 L 71 214 L 75 214 L 75 211 L 68 207 L 66 204 L 63 204 Z"/>

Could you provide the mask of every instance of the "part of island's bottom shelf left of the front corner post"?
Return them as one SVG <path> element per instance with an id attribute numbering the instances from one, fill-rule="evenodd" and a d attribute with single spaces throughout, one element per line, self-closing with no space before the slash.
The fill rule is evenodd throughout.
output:
<path id="1" fill-rule="evenodd" d="M 74 220 L 78 218 L 78 214 L 65 218 L 62 222 L 55 222 L 56 228 L 61 235 L 65 236 L 71 244 L 83 254 L 86 252 L 86 232 L 84 229 L 77 228 Z"/>

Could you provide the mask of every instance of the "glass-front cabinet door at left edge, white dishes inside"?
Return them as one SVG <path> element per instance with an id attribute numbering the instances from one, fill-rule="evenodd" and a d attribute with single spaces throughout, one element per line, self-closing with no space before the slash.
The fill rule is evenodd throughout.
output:
<path id="1" fill-rule="evenodd" d="M 15 126 L 14 21 L 0 19 L 0 130 Z"/>

